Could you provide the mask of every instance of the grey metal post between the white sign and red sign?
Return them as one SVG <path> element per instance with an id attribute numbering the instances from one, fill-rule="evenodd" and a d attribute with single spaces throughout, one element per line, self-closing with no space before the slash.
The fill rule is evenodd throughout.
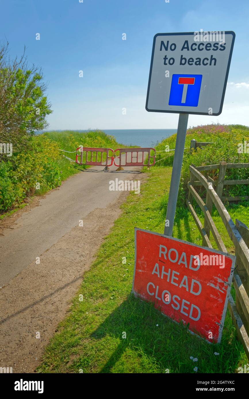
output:
<path id="1" fill-rule="evenodd" d="M 169 188 L 167 214 L 166 214 L 164 233 L 163 233 L 169 236 L 172 235 L 174 218 L 175 218 L 175 208 L 176 208 L 177 195 L 178 195 L 179 183 L 181 177 L 181 166 L 183 160 L 188 118 L 189 114 L 179 114 L 177 136 L 175 142 L 175 154 L 174 154 L 171 182 Z"/>

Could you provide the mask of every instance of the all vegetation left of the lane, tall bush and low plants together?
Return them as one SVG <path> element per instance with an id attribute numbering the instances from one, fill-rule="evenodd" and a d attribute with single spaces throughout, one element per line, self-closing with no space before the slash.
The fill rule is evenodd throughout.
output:
<path id="1" fill-rule="evenodd" d="M 37 131 L 48 128 L 47 116 L 52 113 L 46 89 L 42 70 L 29 67 L 25 48 L 22 57 L 13 60 L 8 57 L 8 42 L 0 43 L 0 214 L 57 187 L 78 171 L 60 149 L 117 144 L 114 137 L 99 130 L 36 136 Z M 7 145 L 12 145 L 11 154 L 4 151 Z M 75 154 L 70 158 L 75 160 Z"/>

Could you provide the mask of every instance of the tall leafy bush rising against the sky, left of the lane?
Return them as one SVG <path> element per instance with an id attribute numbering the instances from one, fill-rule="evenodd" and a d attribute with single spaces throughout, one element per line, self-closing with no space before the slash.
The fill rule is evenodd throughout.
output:
<path id="1" fill-rule="evenodd" d="M 14 151 L 21 151 L 29 135 L 48 126 L 52 111 L 41 69 L 28 67 L 24 54 L 12 60 L 7 53 L 8 43 L 0 43 L 0 142 L 12 142 Z M 4 154 L 2 159 L 8 160 Z"/>

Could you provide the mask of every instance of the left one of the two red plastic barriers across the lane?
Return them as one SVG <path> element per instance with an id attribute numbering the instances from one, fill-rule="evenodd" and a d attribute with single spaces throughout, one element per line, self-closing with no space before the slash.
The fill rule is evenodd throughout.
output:
<path id="1" fill-rule="evenodd" d="M 80 155 L 77 154 L 78 150 L 80 150 Z M 109 155 L 109 151 L 111 152 L 111 156 Z M 84 154 L 84 152 L 86 154 Z M 104 154 L 106 154 L 105 160 L 103 160 Z M 105 170 L 107 170 L 109 166 L 112 166 L 113 154 L 114 150 L 112 150 L 112 148 L 78 147 L 76 149 L 75 162 L 76 164 L 79 165 L 105 166 Z M 83 162 L 83 156 L 84 158 L 86 157 L 86 160 L 84 159 L 85 162 Z M 80 162 L 78 162 L 79 157 L 80 157 Z"/>

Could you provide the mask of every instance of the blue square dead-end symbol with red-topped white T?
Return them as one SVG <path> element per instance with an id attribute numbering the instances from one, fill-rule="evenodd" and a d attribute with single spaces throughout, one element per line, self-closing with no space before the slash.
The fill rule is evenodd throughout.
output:
<path id="1" fill-rule="evenodd" d="M 172 75 L 169 105 L 197 107 L 202 75 Z"/>

